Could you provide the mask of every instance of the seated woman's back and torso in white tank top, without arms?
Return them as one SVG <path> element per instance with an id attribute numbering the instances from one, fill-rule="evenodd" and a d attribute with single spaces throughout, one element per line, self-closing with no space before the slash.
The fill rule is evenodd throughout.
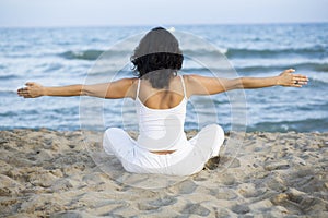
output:
<path id="1" fill-rule="evenodd" d="M 185 93 L 183 76 L 173 77 L 165 89 L 153 88 L 147 80 L 138 81 L 138 142 L 142 147 L 149 150 L 176 150 L 178 145 L 185 144 Z"/>

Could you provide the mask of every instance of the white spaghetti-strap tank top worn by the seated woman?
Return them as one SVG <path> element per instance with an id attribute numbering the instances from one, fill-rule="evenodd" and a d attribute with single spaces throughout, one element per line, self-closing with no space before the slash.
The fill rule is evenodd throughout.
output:
<path id="1" fill-rule="evenodd" d="M 183 76 L 184 98 L 179 105 L 168 109 L 152 109 L 139 99 L 140 80 L 138 81 L 136 107 L 139 120 L 138 145 L 152 150 L 177 150 L 186 145 L 184 132 L 186 119 L 186 87 Z"/>

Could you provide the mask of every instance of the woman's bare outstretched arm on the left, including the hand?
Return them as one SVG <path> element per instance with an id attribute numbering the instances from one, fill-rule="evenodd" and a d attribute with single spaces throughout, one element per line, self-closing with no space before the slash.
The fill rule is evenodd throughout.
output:
<path id="1" fill-rule="evenodd" d="M 95 85 L 68 85 L 58 87 L 46 87 L 38 83 L 26 83 L 26 87 L 17 89 L 19 96 L 24 98 L 36 98 L 40 96 L 94 96 L 101 98 L 125 98 L 133 97 L 131 87 L 136 78 L 122 78 L 112 83 Z"/>

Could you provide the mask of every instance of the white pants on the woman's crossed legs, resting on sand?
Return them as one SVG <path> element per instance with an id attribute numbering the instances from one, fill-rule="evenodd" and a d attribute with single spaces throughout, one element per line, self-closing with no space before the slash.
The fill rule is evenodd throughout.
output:
<path id="1" fill-rule="evenodd" d="M 104 134 L 103 147 L 108 155 L 115 155 L 129 172 L 189 175 L 202 170 L 211 157 L 219 155 L 223 141 L 222 128 L 211 124 L 176 152 L 157 155 L 139 146 L 124 130 L 110 128 Z"/>

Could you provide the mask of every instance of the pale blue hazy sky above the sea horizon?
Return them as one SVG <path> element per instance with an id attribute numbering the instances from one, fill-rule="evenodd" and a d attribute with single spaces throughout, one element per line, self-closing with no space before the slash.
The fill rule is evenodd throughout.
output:
<path id="1" fill-rule="evenodd" d="M 328 22 L 328 0 L 0 0 L 0 27 Z"/>

